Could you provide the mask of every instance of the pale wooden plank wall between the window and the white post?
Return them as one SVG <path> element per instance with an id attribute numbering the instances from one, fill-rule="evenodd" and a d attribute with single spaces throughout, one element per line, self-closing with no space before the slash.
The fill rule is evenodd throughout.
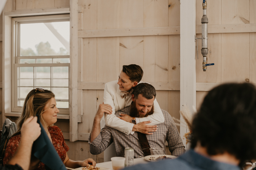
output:
<path id="1" fill-rule="evenodd" d="M 79 31 L 154 28 L 180 25 L 179 0 L 78 0 Z M 93 36 L 93 35 L 92 35 Z M 123 65 L 143 68 L 144 82 L 180 82 L 180 36 L 127 36 L 78 38 L 78 82 L 83 123 L 78 133 L 90 133 L 94 115 L 103 102 L 104 88 L 93 86 L 117 80 Z M 180 92 L 158 90 L 161 108 L 180 118 Z M 79 114 L 79 113 L 78 113 Z"/>

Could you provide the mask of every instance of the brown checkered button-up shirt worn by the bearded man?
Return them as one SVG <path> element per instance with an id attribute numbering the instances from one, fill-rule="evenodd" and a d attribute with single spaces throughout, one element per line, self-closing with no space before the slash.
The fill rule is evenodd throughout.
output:
<path id="1" fill-rule="evenodd" d="M 164 148 L 165 154 L 165 141 L 168 142 L 169 150 L 174 156 L 180 156 L 185 152 L 185 146 L 182 143 L 178 129 L 171 117 L 171 115 L 162 109 L 164 115 L 164 123 L 158 124 L 158 129 L 153 132 L 153 135 L 147 135 L 148 143 L 151 148 L 160 147 Z M 130 115 L 130 107 L 123 108 L 117 111 L 116 116 L 120 117 L 120 113 Z M 110 128 L 105 125 L 101 130 L 98 137 L 92 143 L 90 142 L 90 152 L 94 155 L 103 152 L 114 141 L 116 147 L 116 155 L 124 157 L 124 148 L 131 147 L 134 149 L 134 158 L 144 157 L 141 149 L 138 134 L 126 135 L 125 133 L 116 129 Z"/>

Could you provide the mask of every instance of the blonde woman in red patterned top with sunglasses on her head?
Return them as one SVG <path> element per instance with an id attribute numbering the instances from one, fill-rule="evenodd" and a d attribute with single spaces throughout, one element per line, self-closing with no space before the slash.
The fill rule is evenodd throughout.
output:
<path id="1" fill-rule="evenodd" d="M 18 131 L 13 134 L 6 146 L 4 164 L 6 164 L 17 151 L 20 143 L 20 129 L 23 122 L 30 116 L 39 115 L 44 130 L 65 166 L 69 168 L 77 168 L 81 166 L 89 166 L 89 164 L 92 166 L 96 165 L 96 162 L 91 158 L 84 161 L 74 161 L 68 158 L 67 152 L 69 148 L 65 143 L 63 134 L 57 126 L 53 126 L 53 124 L 57 122 L 57 113 L 59 113 L 54 97 L 55 95 L 51 91 L 42 88 L 33 89 L 28 93 L 21 116 L 17 123 Z M 31 159 L 30 169 L 44 170 L 45 166 L 44 163 L 34 157 Z"/>

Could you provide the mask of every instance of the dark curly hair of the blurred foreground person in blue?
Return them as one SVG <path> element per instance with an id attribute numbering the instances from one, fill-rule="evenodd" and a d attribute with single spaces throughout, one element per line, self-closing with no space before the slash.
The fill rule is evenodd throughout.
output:
<path id="1" fill-rule="evenodd" d="M 192 123 L 191 148 L 197 142 L 209 155 L 228 152 L 240 161 L 255 159 L 255 86 L 229 83 L 213 88 Z"/>

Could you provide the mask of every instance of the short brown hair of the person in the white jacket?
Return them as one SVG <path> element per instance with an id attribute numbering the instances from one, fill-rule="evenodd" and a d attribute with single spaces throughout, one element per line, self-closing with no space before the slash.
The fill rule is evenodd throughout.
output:
<path id="1" fill-rule="evenodd" d="M 140 82 L 142 76 L 143 76 L 143 70 L 139 65 L 136 64 L 130 64 L 130 65 L 123 65 L 123 70 L 122 70 L 131 82 Z"/>

